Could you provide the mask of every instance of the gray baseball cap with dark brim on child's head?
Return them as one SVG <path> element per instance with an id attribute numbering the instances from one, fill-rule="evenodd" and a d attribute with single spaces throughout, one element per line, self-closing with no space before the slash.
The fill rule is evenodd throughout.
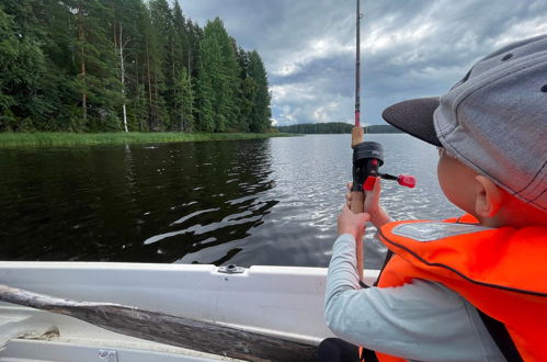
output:
<path id="1" fill-rule="evenodd" d="M 547 211 L 547 35 L 490 54 L 441 98 L 397 103 L 381 116 Z"/>

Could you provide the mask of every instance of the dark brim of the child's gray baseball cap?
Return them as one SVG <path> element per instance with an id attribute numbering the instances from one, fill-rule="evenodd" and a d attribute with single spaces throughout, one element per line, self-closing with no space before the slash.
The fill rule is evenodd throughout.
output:
<path id="1" fill-rule="evenodd" d="M 434 146 L 443 146 L 433 125 L 438 97 L 408 100 L 388 106 L 381 117 L 396 128 Z"/>

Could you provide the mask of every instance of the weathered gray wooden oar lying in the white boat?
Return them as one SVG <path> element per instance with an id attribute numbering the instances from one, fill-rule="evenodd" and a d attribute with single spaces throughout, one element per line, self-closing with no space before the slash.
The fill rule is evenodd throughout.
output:
<path id="1" fill-rule="evenodd" d="M 316 360 L 316 346 L 125 305 L 77 302 L 1 284 L 0 301 L 71 316 L 125 336 L 241 360 Z"/>

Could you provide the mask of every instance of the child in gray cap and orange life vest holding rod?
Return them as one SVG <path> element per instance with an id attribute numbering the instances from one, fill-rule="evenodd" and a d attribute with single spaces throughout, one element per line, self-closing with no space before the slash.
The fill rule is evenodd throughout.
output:
<path id="1" fill-rule="evenodd" d="M 324 315 L 353 344 L 328 339 L 319 359 L 356 361 L 363 346 L 366 361 L 547 361 L 547 35 L 487 56 L 440 99 L 383 117 L 440 148 L 441 188 L 467 214 L 392 223 L 379 180 L 366 214 L 344 206 Z M 392 258 L 379 287 L 360 289 L 355 238 L 367 220 Z"/>

